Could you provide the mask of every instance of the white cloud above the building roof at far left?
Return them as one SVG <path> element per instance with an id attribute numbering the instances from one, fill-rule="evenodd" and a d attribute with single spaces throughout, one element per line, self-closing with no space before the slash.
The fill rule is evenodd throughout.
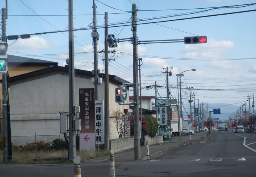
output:
<path id="1" fill-rule="evenodd" d="M 52 45 L 48 40 L 43 37 L 34 36 L 30 39 L 18 39 L 14 44 L 8 46 L 8 49 L 14 51 L 28 50 L 30 53 L 33 53 L 50 47 L 52 47 Z"/>

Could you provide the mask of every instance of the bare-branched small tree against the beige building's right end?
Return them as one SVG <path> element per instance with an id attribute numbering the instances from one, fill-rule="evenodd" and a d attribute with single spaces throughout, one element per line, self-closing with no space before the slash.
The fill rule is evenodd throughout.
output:
<path id="1" fill-rule="evenodd" d="M 113 113 L 111 117 L 112 122 L 115 124 L 119 138 L 130 135 L 130 116 L 123 114 L 120 110 Z"/>

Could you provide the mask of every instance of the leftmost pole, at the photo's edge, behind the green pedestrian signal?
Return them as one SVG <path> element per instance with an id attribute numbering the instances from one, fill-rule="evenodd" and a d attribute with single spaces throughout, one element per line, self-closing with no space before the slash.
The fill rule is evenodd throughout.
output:
<path id="1" fill-rule="evenodd" d="M 6 41 L 6 8 L 2 8 L 2 41 Z M 3 94 L 3 160 L 8 162 L 8 121 L 7 121 L 7 74 L 2 74 L 2 94 Z"/>

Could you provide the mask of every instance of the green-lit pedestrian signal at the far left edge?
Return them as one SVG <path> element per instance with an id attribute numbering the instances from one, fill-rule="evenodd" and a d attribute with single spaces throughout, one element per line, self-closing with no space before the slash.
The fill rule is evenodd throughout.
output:
<path id="1" fill-rule="evenodd" d="M 7 43 L 0 41 L 0 74 L 7 73 Z"/>

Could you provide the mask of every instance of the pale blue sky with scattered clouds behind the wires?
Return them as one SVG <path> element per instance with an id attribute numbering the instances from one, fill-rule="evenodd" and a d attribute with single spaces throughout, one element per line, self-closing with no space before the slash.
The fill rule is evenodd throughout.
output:
<path id="1" fill-rule="evenodd" d="M 0 0 L 1 8 L 5 0 Z M 104 13 L 109 13 L 109 24 L 122 22 L 130 24 L 132 3 L 137 4 L 137 18 L 144 21 L 157 22 L 206 15 L 216 15 L 238 11 L 255 10 L 256 5 L 237 8 L 217 8 L 210 11 L 206 7 L 234 6 L 256 3 L 253 0 L 95 0 L 97 6 L 97 26 L 104 25 Z M 91 26 L 93 22 L 93 0 L 75 0 L 74 31 L 75 67 L 93 70 L 93 46 Z M 204 9 L 196 9 L 204 8 Z M 205 9 L 206 8 L 206 9 Z M 7 35 L 33 34 L 48 31 L 67 30 L 67 0 L 9 0 Z M 158 10 L 158 11 L 148 11 Z M 195 13 L 198 12 L 198 13 Z M 193 14 L 190 14 L 193 13 Z M 172 16 L 172 17 L 169 17 Z M 152 19 L 154 17 L 158 17 Z M 177 77 L 185 70 L 196 69 L 195 72 L 184 72 L 181 77 L 182 101 L 188 105 L 189 90 L 193 87 L 195 99 L 202 103 L 219 103 L 241 106 L 247 96 L 256 94 L 256 11 L 220 15 L 205 18 L 167 21 L 141 24 L 137 27 L 138 40 L 184 39 L 188 36 L 206 35 L 206 44 L 163 43 L 138 46 L 138 55 L 142 58 L 141 85 L 142 96 L 154 96 L 154 89 L 144 87 L 163 86 L 158 89 L 158 97 L 166 97 L 166 75 L 163 68 L 169 67 L 171 97 L 177 98 Z M 98 29 L 100 39 L 98 51 L 104 50 L 104 28 Z M 109 34 L 117 38 L 132 37 L 131 26 L 109 28 Z M 55 61 L 59 66 L 65 65 L 68 58 L 68 32 L 32 35 L 30 39 L 7 41 L 8 54 L 35 59 Z M 13 43 L 14 42 L 14 43 Z M 132 82 L 132 44 L 120 42 L 110 53 L 109 74 L 119 76 Z M 98 67 L 104 73 L 103 53 L 98 53 Z M 133 94 L 130 92 L 131 95 Z M 251 102 L 252 103 L 252 100 Z M 218 107 L 215 107 L 218 108 Z M 213 108 L 209 108 L 213 109 Z M 248 109 L 248 108 L 247 108 Z M 230 112 L 231 113 L 231 112 Z M 227 114 L 226 116 L 228 116 Z"/>

